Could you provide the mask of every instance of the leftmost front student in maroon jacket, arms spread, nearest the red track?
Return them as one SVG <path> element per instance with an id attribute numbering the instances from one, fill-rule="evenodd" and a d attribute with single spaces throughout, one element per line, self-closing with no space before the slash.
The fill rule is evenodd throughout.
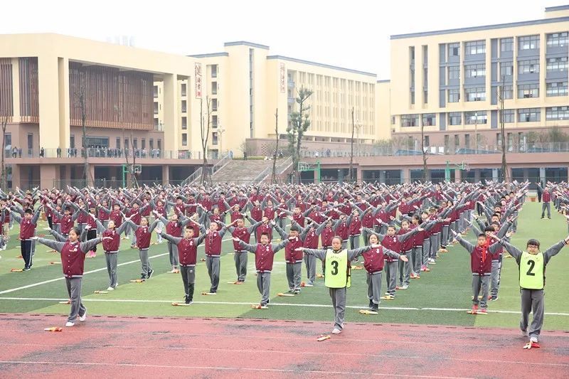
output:
<path id="1" fill-rule="evenodd" d="M 33 237 L 43 245 L 51 247 L 61 253 L 61 267 L 65 284 L 67 284 L 67 292 L 71 299 L 71 309 L 65 326 L 74 326 L 75 319 L 79 316 L 79 321 L 87 319 L 87 309 L 81 302 L 81 282 L 83 281 L 83 267 L 85 265 L 85 253 L 95 247 L 103 239 L 110 237 L 99 237 L 86 242 L 79 242 L 78 228 L 71 228 L 69 231 L 69 240 L 65 242 L 56 242 L 46 240 L 45 238 Z"/>

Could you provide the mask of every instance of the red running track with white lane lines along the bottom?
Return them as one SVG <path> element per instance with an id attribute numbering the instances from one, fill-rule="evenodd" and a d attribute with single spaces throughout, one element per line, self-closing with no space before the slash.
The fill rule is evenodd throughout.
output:
<path id="1" fill-rule="evenodd" d="M 522 349 L 511 329 L 331 324 L 257 319 L 0 314 L 0 377 L 62 378 L 568 378 L 569 332 Z"/>

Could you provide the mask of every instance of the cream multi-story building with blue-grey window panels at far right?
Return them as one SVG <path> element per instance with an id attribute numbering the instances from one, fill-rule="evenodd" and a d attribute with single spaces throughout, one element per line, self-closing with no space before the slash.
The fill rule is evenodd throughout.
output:
<path id="1" fill-rule="evenodd" d="M 569 132 L 569 6 L 546 18 L 391 36 L 392 137 L 446 152 Z M 541 137 L 543 139 L 543 137 Z M 416 148 L 417 146 L 415 146 Z"/>

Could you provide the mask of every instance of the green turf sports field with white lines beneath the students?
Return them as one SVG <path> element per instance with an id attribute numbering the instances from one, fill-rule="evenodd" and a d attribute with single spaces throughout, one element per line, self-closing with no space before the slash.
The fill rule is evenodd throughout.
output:
<path id="1" fill-rule="evenodd" d="M 541 220 L 540 203 L 526 203 L 519 217 L 518 233 L 512 238 L 514 245 L 525 247 L 530 237 L 541 241 L 542 250 L 568 235 L 563 216 L 554 213 L 552 220 Z M 46 222 L 38 225 L 43 232 Z M 17 240 L 18 226 L 11 230 L 9 248 L 0 252 L 0 311 L 2 313 L 68 314 L 68 305 L 59 301 L 68 299 L 56 253 L 38 245 L 29 272 L 10 272 L 21 268 L 23 261 Z M 85 262 L 83 301 L 90 315 L 117 316 L 206 316 L 255 319 L 283 319 L 306 321 L 331 321 L 333 313 L 324 279 L 317 279 L 312 288 L 304 288 L 296 297 L 277 297 L 287 290 L 284 251 L 275 257 L 272 271 L 269 309 L 251 309 L 258 304 L 260 295 L 255 280 L 254 259 L 250 255 L 248 278 L 243 285 L 228 284 L 235 277 L 233 245 L 225 235 L 221 258 L 221 279 L 216 296 L 202 296 L 209 289 L 209 277 L 205 263 L 196 269 L 196 294 L 191 306 L 171 306 L 172 301 L 183 301 L 184 291 L 179 274 L 166 273 L 169 265 L 166 243 L 152 245 L 149 255 L 155 270 L 154 276 L 144 283 L 131 283 L 140 272 L 138 250 L 122 241 L 119 252 L 119 287 L 108 294 L 95 294 L 108 285 L 105 257 L 102 252 Z M 472 233 L 468 236 L 474 240 Z M 199 249 L 203 257 L 203 246 Z M 318 266 L 319 267 L 319 266 Z M 569 267 L 569 248 L 565 247 L 553 258 L 547 268 L 545 330 L 569 329 L 569 301 L 567 301 L 566 277 Z M 472 316 L 466 313 L 471 306 L 471 274 L 467 252 L 455 245 L 448 253 L 442 253 L 432 272 L 422 273 L 421 279 L 412 280 L 409 289 L 398 291 L 393 301 L 382 301 L 378 315 L 358 314 L 360 307 L 368 304 L 366 275 L 354 270 L 352 287 L 348 294 L 347 322 L 393 322 L 402 324 L 432 324 L 457 326 L 495 326 L 518 328 L 519 287 L 517 265 L 512 259 L 504 260 L 498 301 L 491 301 L 489 314 Z M 319 270 L 318 270 L 319 271 Z M 303 280 L 306 280 L 303 265 Z M 385 280 L 385 279 L 384 279 Z M 383 283 L 385 286 L 385 282 Z M 385 287 L 384 287 L 385 289 Z M 61 319 L 64 320 L 63 318 Z M 63 323 L 62 323 L 63 324 Z"/>

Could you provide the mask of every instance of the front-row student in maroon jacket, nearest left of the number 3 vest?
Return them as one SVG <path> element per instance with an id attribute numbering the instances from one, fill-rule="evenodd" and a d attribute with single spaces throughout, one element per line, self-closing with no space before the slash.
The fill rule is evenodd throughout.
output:
<path id="1" fill-rule="evenodd" d="M 274 223 L 275 221 L 273 221 Z M 261 242 L 249 245 L 238 237 L 233 237 L 233 242 L 240 245 L 241 250 L 246 250 L 255 254 L 255 269 L 257 269 L 257 289 L 261 294 L 261 301 L 255 309 L 267 309 L 269 304 L 269 292 L 271 287 L 272 262 L 275 254 L 285 247 L 289 240 L 282 240 L 279 244 L 269 243 L 270 237 L 267 233 L 262 233 Z"/>

